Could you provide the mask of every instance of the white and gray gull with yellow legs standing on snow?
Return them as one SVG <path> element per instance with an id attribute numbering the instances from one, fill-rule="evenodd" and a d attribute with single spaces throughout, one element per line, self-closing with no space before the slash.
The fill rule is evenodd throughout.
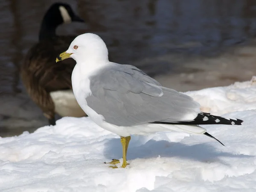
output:
<path id="1" fill-rule="evenodd" d="M 161 86 L 133 65 L 109 61 L 107 46 L 96 34 L 77 36 L 56 62 L 67 58 L 76 60 L 72 87 L 81 108 L 101 128 L 121 137 L 122 168 L 128 165 L 126 155 L 133 134 L 182 131 L 217 140 L 199 125 L 243 122 L 201 112 L 200 104 L 190 96 Z M 113 159 L 109 163 L 117 168 L 120 162 Z"/>

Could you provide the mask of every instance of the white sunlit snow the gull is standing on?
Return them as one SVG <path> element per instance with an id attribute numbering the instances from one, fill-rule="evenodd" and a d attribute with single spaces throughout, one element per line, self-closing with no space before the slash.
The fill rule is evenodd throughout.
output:
<path id="1" fill-rule="evenodd" d="M 255 79 L 187 92 L 202 111 L 243 119 L 240 126 L 204 125 L 204 135 L 159 132 L 132 136 L 127 169 L 119 137 L 87 117 L 0 138 L 1 192 L 255 192 Z"/>

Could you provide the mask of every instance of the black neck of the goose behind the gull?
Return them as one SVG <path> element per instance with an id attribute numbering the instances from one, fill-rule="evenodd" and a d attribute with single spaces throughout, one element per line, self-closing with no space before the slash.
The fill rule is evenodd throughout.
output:
<path id="1" fill-rule="evenodd" d="M 60 18 L 59 18 L 60 17 Z M 56 37 L 56 29 L 62 23 L 61 16 L 54 16 L 46 14 L 41 24 L 39 32 L 39 41 Z"/>

